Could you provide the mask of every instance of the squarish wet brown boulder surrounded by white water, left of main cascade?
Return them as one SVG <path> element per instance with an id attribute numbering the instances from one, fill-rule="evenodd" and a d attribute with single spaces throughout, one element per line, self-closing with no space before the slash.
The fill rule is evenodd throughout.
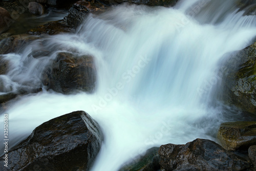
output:
<path id="1" fill-rule="evenodd" d="M 93 57 L 72 53 L 59 53 L 44 76 L 48 88 L 63 94 L 77 91 L 93 92 L 96 69 Z"/>

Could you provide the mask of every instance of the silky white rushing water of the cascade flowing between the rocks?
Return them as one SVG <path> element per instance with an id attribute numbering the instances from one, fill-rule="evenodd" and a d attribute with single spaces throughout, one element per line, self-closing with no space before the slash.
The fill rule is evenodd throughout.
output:
<path id="1" fill-rule="evenodd" d="M 14 144 L 39 124 L 78 110 L 88 112 L 104 133 L 95 171 L 118 170 L 153 146 L 215 140 L 225 120 L 223 109 L 208 103 L 216 86 L 212 80 L 220 81 L 215 75 L 218 61 L 248 46 L 256 35 L 255 16 L 237 13 L 232 1 L 220 2 L 198 5 L 187 0 L 175 8 L 122 5 L 90 15 L 77 34 L 36 40 L 19 53 L 5 55 L 13 69 L 9 80 L 3 80 L 14 90 L 41 86 L 40 73 L 49 56 L 60 51 L 92 54 L 98 74 L 94 94 L 44 90 L 20 98 L 6 111 L 10 141 Z M 51 54 L 33 58 L 39 50 Z"/>

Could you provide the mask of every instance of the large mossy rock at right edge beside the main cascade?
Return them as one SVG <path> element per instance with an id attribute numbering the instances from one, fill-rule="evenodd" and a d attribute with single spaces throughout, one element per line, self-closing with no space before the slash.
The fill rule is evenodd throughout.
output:
<path id="1" fill-rule="evenodd" d="M 256 116 L 256 42 L 230 55 L 226 68 L 223 101 Z"/>

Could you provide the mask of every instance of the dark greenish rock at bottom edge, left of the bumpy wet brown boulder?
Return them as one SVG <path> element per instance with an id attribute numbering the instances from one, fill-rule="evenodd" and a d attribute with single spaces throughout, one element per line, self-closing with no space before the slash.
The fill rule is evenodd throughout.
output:
<path id="1" fill-rule="evenodd" d="M 146 151 L 145 155 L 137 156 L 132 162 L 128 162 L 119 171 L 155 171 L 160 169 L 159 147 L 153 147 Z"/>

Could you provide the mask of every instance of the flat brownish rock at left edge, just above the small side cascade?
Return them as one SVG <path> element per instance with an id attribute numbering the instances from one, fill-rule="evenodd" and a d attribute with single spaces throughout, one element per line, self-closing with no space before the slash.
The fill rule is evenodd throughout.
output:
<path id="1" fill-rule="evenodd" d="M 22 48 L 24 44 L 28 44 L 32 40 L 41 37 L 31 36 L 29 34 L 19 34 L 10 36 L 0 40 L 0 54 L 13 53 Z"/>

